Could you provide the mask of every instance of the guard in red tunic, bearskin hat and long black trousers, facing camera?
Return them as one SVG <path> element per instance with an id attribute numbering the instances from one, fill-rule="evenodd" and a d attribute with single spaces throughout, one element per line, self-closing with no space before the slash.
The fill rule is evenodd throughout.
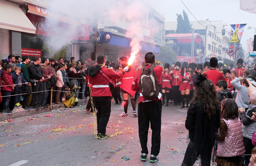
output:
<path id="1" fill-rule="evenodd" d="M 180 74 L 180 62 L 177 61 L 175 63 L 175 70 L 173 71 L 173 73 L 171 73 L 171 76 L 173 77 L 172 80 L 172 93 L 173 93 L 173 100 L 174 100 L 174 106 L 177 105 L 181 105 L 181 93 L 180 93 L 180 81 L 178 80 L 179 78 L 179 74 Z"/>

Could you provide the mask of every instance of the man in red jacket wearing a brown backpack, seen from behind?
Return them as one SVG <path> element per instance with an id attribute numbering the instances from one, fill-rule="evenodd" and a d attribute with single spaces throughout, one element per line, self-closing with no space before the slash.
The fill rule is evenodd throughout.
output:
<path id="1" fill-rule="evenodd" d="M 139 89 L 138 105 L 138 124 L 140 145 L 142 148 L 140 159 L 147 160 L 148 148 L 147 138 L 149 122 L 152 130 L 151 155 L 150 161 L 156 162 L 160 151 L 161 142 L 161 114 L 162 114 L 162 96 L 159 93 L 161 84 L 161 74 L 163 67 L 154 66 L 155 56 L 149 52 L 145 55 L 146 66 L 141 68 L 135 76 L 132 84 L 132 90 Z"/>

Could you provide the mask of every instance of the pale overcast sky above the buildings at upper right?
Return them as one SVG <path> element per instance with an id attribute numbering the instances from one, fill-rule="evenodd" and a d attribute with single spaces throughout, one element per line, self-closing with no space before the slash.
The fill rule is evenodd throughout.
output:
<path id="1" fill-rule="evenodd" d="M 247 24 L 243 31 L 241 44 L 247 51 L 246 40 L 253 38 L 254 29 L 247 29 L 249 26 L 256 28 L 256 14 L 240 9 L 239 0 L 146 0 L 153 8 L 165 17 L 165 21 L 177 21 L 177 14 L 182 14 L 183 9 L 188 14 L 189 21 L 209 19 L 210 21 L 227 22 L 230 24 Z"/>

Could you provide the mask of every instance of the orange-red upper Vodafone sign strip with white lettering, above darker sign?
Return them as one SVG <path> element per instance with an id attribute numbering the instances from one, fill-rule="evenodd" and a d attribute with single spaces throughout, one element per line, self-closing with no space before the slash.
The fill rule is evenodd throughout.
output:
<path id="1" fill-rule="evenodd" d="M 44 9 L 44 8 L 40 8 L 37 6 L 33 6 L 30 4 L 27 4 L 27 6 L 28 6 L 29 13 L 33 13 L 35 15 L 40 15 L 40 16 L 44 16 L 44 17 L 49 17 L 52 19 L 57 19 L 59 21 L 63 21 L 63 22 L 67 22 L 69 24 L 75 24 L 75 25 L 80 26 L 80 20 L 77 18 L 70 17 L 65 14 L 55 12 L 55 11 L 52 11 L 49 9 Z"/>

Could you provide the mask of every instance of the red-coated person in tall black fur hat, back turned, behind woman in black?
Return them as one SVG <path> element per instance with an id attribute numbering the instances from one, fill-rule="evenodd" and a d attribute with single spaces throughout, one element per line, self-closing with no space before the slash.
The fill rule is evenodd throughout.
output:
<path id="1" fill-rule="evenodd" d="M 203 72 L 203 73 L 207 74 L 207 76 L 208 76 L 207 79 L 211 80 L 213 82 L 214 86 L 216 85 L 216 83 L 219 80 L 226 80 L 226 78 L 223 75 L 223 72 L 218 71 L 216 69 L 217 66 L 218 66 L 218 59 L 215 57 L 212 57 L 210 59 L 210 70 Z"/>

